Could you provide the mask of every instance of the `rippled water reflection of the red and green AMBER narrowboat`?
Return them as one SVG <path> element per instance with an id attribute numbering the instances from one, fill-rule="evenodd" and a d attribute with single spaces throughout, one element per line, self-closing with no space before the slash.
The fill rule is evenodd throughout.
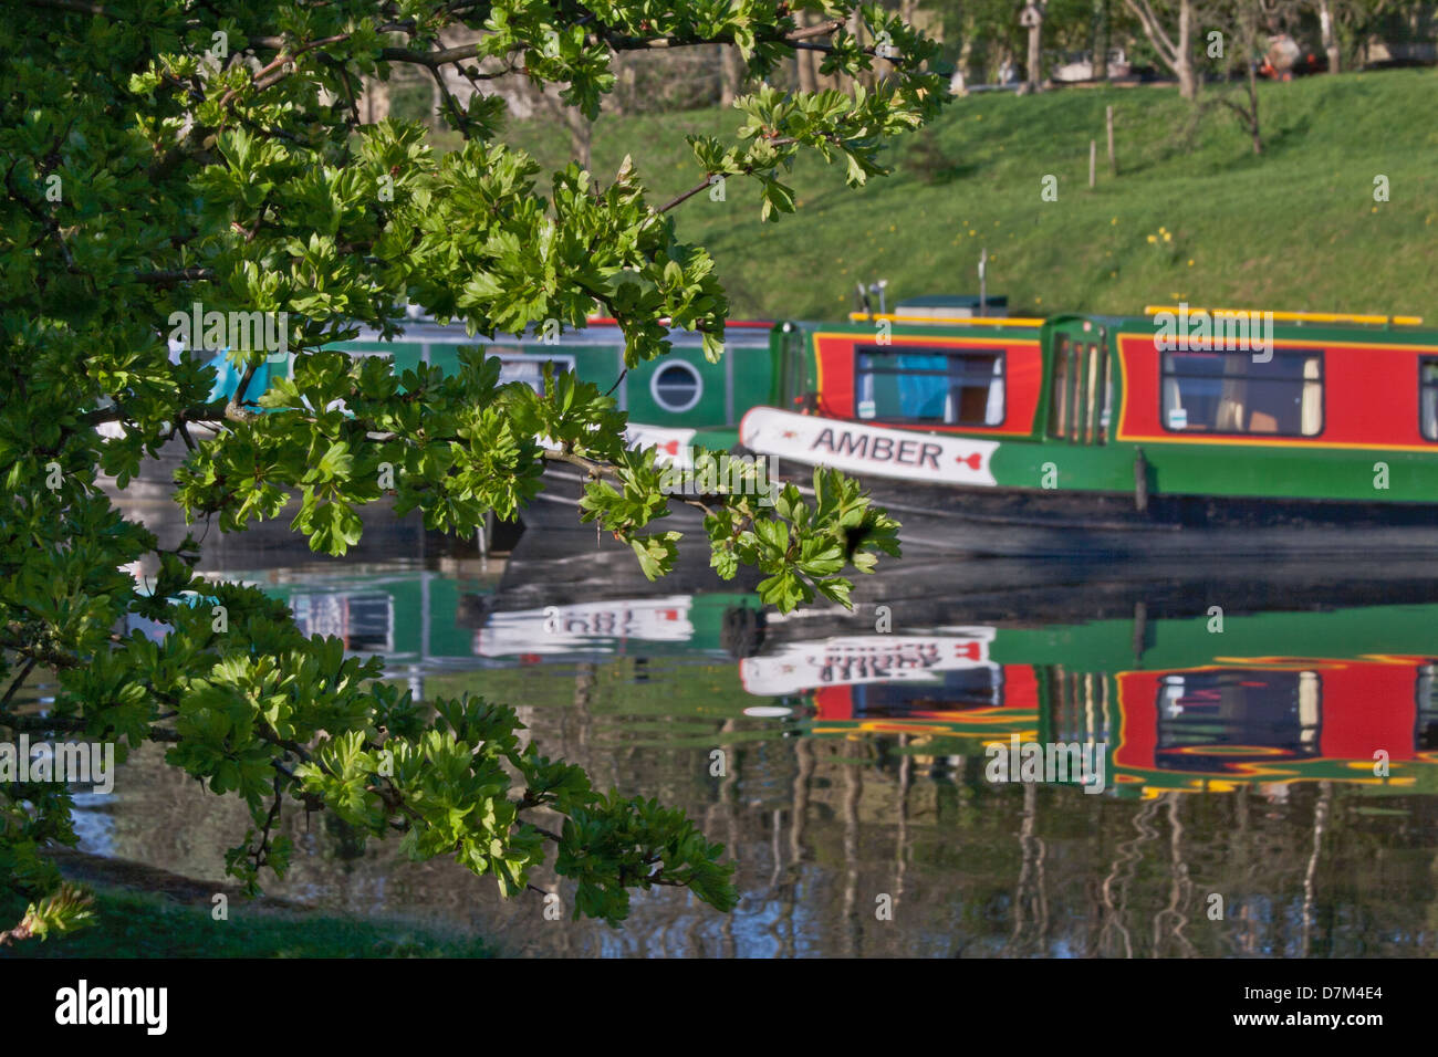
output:
<path id="1" fill-rule="evenodd" d="M 838 636 L 745 659 L 741 677 L 817 736 L 903 733 L 935 765 L 1015 738 L 1103 745 L 1117 795 L 1301 781 L 1432 791 L 1435 617 L 1376 605 Z"/>

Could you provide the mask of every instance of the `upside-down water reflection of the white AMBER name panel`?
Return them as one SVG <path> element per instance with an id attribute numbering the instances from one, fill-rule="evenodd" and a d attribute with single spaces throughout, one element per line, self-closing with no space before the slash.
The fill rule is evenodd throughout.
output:
<path id="1" fill-rule="evenodd" d="M 935 682 L 939 672 L 988 667 L 991 627 L 961 627 L 943 636 L 854 636 L 791 643 L 779 653 L 739 662 L 743 689 L 785 695 L 821 686 Z"/>

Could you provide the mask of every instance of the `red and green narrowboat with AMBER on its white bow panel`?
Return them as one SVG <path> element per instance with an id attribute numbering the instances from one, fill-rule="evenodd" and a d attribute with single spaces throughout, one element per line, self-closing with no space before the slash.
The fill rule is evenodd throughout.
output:
<path id="1" fill-rule="evenodd" d="M 782 324 L 774 406 L 741 443 L 797 483 L 807 466 L 860 477 L 909 546 L 1438 551 L 1438 331 L 1421 321 L 961 311 Z"/>

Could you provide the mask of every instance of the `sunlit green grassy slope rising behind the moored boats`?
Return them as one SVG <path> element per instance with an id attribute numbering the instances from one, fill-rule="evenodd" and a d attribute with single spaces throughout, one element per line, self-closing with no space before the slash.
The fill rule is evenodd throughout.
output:
<path id="1" fill-rule="evenodd" d="M 981 95 L 892 150 L 894 173 L 867 188 L 848 191 L 840 170 L 807 161 L 791 180 L 797 214 L 761 224 L 739 181 L 723 203 L 700 194 L 682 206 L 679 233 L 710 247 L 736 315 L 833 318 L 860 279 L 889 279 L 899 296 L 975 292 L 986 247 L 989 290 L 1015 312 L 1133 312 L 1182 298 L 1438 319 L 1435 92 L 1432 70 L 1263 85 L 1263 157 L 1228 111 L 1195 124 L 1169 86 Z M 1110 104 L 1116 177 L 1103 147 Z M 601 116 L 594 171 L 603 181 L 631 154 L 661 201 L 700 178 L 684 134 L 732 135 L 739 124 L 720 111 Z M 510 135 L 546 164 L 568 157 L 552 124 L 519 122 Z M 1058 180 L 1057 201 L 1040 197 L 1045 175 Z M 1376 175 L 1388 177 L 1388 203 L 1373 200 Z"/>

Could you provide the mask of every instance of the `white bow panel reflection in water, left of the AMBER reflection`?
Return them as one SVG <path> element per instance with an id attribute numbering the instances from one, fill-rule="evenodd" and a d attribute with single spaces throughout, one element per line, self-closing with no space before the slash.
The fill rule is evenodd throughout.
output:
<path id="1" fill-rule="evenodd" d="M 614 653 L 618 643 L 687 643 L 695 637 L 686 594 L 643 601 L 546 605 L 493 613 L 475 633 L 480 657 L 555 653 Z"/>

